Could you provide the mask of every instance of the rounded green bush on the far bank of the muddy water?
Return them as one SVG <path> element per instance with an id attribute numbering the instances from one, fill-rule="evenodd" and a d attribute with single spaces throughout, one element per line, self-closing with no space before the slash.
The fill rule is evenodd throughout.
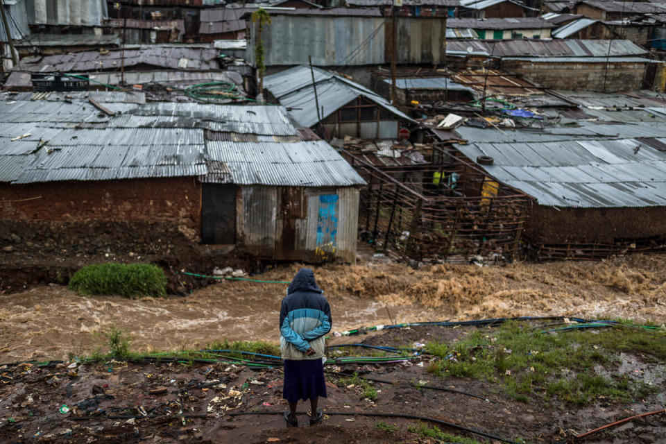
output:
<path id="1" fill-rule="evenodd" d="M 88 265 L 74 273 L 69 288 L 88 295 L 167 296 L 167 276 L 151 264 Z"/>

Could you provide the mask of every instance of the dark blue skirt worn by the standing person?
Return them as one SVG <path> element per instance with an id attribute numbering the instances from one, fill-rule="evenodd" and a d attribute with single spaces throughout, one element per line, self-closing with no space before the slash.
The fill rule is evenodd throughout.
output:
<path id="1" fill-rule="evenodd" d="M 284 387 L 282 398 L 288 402 L 326 398 L 324 364 L 321 359 L 296 361 L 284 359 Z"/>

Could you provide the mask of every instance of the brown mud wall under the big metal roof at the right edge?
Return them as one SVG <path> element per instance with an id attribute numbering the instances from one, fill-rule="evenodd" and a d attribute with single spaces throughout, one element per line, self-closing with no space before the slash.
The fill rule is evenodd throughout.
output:
<path id="1" fill-rule="evenodd" d="M 525 224 L 524 239 L 539 244 L 611 244 L 618 239 L 666 237 L 666 207 L 558 210 L 535 205 Z"/>

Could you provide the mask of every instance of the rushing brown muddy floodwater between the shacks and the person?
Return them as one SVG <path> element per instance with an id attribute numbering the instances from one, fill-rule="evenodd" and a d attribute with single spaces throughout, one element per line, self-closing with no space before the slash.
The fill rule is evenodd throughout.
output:
<path id="1" fill-rule="evenodd" d="M 316 267 L 315 273 L 332 306 L 334 331 L 501 316 L 663 323 L 665 262 L 663 256 L 635 256 L 482 268 L 434 265 L 416 271 L 368 262 Z M 257 278 L 290 280 L 296 270 L 298 266 L 284 266 Z M 200 348 L 222 339 L 277 341 L 286 287 L 221 282 L 187 297 L 129 300 L 46 286 L 0 296 L 0 362 L 89 355 L 100 346 L 94 332 L 109 325 L 133 336 L 133 350 Z"/>

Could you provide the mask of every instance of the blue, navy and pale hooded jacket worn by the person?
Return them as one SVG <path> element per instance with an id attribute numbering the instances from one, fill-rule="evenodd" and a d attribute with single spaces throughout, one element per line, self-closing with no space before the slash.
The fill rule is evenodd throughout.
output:
<path id="1" fill-rule="evenodd" d="M 321 359 L 324 335 L 332 326 L 331 307 L 314 280 L 314 272 L 301 268 L 294 276 L 280 306 L 282 359 Z M 305 351 L 312 348 L 314 355 Z"/>

